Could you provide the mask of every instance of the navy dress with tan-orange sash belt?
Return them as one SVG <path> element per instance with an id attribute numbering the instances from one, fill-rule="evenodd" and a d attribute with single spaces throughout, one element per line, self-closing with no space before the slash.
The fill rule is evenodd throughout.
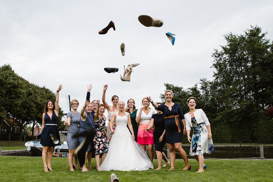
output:
<path id="1" fill-rule="evenodd" d="M 170 111 L 169 107 L 163 104 L 159 105 L 157 110 L 162 111 L 164 114 L 167 143 L 182 142 L 184 126 L 181 120 L 184 119 L 184 114 L 180 105 L 178 103 L 174 103 L 174 105 L 172 106 L 172 110 Z"/>

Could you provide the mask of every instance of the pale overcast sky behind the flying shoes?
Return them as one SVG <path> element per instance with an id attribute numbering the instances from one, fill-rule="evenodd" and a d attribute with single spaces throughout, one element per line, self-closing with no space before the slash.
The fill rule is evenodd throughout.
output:
<path id="1" fill-rule="evenodd" d="M 139 15 L 163 20 L 162 27 L 145 27 Z M 242 34 L 258 25 L 273 40 L 273 1 L 12 1 L 0 0 L 0 66 L 56 93 L 67 112 L 65 95 L 80 107 L 91 83 L 91 100 L 117 95 L 136 107 L 145 96 L 160 101 L 164 83 L 184 88 L 200 78 L 213 79 L 211 57 L 225 45 L 224 34 Z M 110 21 L 116 31 L 99 35 Z M 175 35 L 171 44 L 165 35 Z M 125 43 L 125 56 L 120 44 Z M 123 66 L 133 68 L 130 82 L 120 80 Z M 119 68 L 107 73 L 104 67 Z M 80 108 L 79 107 L 79 108 Z"/>

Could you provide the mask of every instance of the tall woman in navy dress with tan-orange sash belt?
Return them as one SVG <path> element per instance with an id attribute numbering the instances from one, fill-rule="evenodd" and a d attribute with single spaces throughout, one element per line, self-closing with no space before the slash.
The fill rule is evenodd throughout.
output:
<path id="1" fill-rule="evenodd" d="M 187 154 L 182 148 L 182 137 L 186 133 L 184 114 L 180 105 L 172 102 L 173 92 L 171 90 L 166 90 L 164 96 L 166 103 L 163 105 L 158 106 L 156 103 L 153 103 L 153 100 L 150 97 L 149 101 L 152 103 L 154 108 L 162 111 L 164 114 L 166 140 L 170 149 L 170 170 L 174 170 L 175 150 L 180 154 L 185 162 L 185 167 L 183 170 L 190 170 L 191 167 Z"/>

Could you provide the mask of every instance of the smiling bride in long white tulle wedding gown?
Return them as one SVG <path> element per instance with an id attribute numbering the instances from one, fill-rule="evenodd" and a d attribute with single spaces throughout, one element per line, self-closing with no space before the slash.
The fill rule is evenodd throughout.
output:
<path id="1" fill-rule="evenodd" d="M 113 114 L 110 121 L 110 130 L 113 134 L 108 153 L 100 165 L 101 170 L 148 170 L 153 169 L 149 157 L 143 148 L 136 143 L 130 115 L 124 112 L 125 103 L 118 102 L 119 111 Z M 116 129 L 112 126 L 116 120 Z M 127 124 L 132 133 L 129 132 Z"/>

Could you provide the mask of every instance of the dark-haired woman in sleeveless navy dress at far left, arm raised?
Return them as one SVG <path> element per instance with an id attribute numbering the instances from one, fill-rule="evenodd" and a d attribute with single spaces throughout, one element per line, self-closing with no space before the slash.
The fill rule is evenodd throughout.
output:
<path id="1" fill-rule="evenodd" d="M 41 126 L 41 145 L 43 146 L 42 160 L 44 164 L 45 172 L 52 171 L 51 161 L 53 157 L 53 149 L 56 145 L 61 143 L 53 143 L 50 134 L 57 137 L 60 141 L 60 135 L 58 130 L 58 112 L 59 112 L 59 91 L 62 89 L 62 85 L 59 85 L 56 93 L 55 104 L 53 100 L 47 101 L 42 115 L 42 126 Z M 47 160 L 47 164 L 46 164 Z"/>

